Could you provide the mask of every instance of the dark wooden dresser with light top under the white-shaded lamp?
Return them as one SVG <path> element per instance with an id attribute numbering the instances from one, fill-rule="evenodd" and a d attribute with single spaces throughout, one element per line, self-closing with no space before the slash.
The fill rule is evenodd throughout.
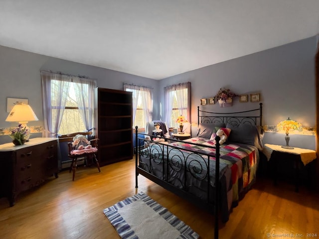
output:
<path id="1" fill-rule="evenodd" d="M 0 197 L 9 199 L 38 186 L 48 177 L 58 177 L 57 138 L 31 138 L 23 145 L 0 145 Z"/>

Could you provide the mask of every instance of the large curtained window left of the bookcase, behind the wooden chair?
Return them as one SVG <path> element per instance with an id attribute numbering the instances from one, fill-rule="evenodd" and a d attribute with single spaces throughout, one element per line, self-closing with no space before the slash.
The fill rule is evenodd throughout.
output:
<path id="1" fill-rule="evenodd" d="M 44 137 L 93 128 L 96 81 L 41 71 Z"/>

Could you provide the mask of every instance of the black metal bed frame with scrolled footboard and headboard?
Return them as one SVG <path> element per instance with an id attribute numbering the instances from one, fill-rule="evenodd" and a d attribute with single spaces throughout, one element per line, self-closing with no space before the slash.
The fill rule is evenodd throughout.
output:
<path id="1" fill-rule="evenodd" d="M 262 103 L 259 104 L 260 107 L 258 109 L 254 109 L 254 110 L 249 110 L 249 111 L 242 111 L 242 112 L 234 112 L 234 113 L 214 113 L 214 112 L 206 112 L 206 111 L 200 111 L 199 107 L 197 107 L 197 117 L 198 117 L 198 125 L 199 123 L 215 123 L 215 122 L 224 122 L 226 123 L 250 123 L 250 124 L 255 124 L 258 125 L 258 119 L 259 119 L 259 125 L 262 125 Z M 238 114 L 244 114 L 244 113 L 250 113 L 250 112 L 258 112 L 259 111 L 259 116 L 239 116 Z M 158 185 L 160 185 L 161 187 L 167 189 L 168 191 L 176 194 L 177 196 L 184 198 L 188 201 L 190 201 L 191 203 L 195 204 L 196 206 L 198 206 L 199 208 L 202 208 L 204 210 L 210 213 L 213 213 L 215 215 L 215 225 L 214 225 L 214 238 L 218 239 L 218 214 L 219 214 L 219 192 L 220 192 L 220 181 L 219 181 L 219 170 L 215 170 L 215 198 L 213 200 L 213 203 L 211 203 L 211 198 L 210 198 L 210 192 L 209 192 L 209 183 L 207 186 L 207 199 L 206 200 L 202 200 L 199 199 L 197 196 L 190 194 L 189 192 L 187 192 L 185 190 L 185 188 L 183 187 L 182 189 L 175 187 L 174 185 L 172 185 L 171 183 L 169 183 L 169 179 L 167 178 L 167 170 L 168 167 L 172 167 L 171 165 L 169 165 L 169 157 L 171 157 L 169 154 L 169 152 L 172 151 L 172 149 L 176 149 L 176 150 L 180 150 L 180 148 L 176 147 L 176 146 L 171 146 L 168 144 L 161 144 L 161 143 L 156 143 L 152 140 L 147 140 L 145 139 L 145 136 L 148 134 L 145 133 L 138 133 L 138 126 L 135 127 L 136 128 L 136 133 L 135 133 L 135 159 L 136 159 L 136 188 L 138 188 L 138 176 L 139 174 L 142 174 L 144 177 L 150 179 L 151 181 L 157 183 Z M 149 135 L 152 138 L 152 135 Z M 212 147 L 215 148 L 216 150 L 216 154 L 215 156 L 215 167 L 219 168 L 219 164 L 220 164 L 220 145 L 219 145 L 219 136 L 216 136 L 215 140 L 216 140 L 216 145 L 215 147 L 213 146 L 207 146 L 207 147 Z M 177 140 L 177 139 L 169 139 L 170 141 L 173 142 L 178 142 L 181 140 Z M 141 142 L 144 142 L 144 145 L 140 145 Z M 145 168 L 142 164 L 141 161 L 141 156 L 144 154 L 143 150 L 145 150 L 145 144 L 148 146 L 147 148 L 149 148 L 149 152 L 150 152 L 150 162 L 151 162 L 151 158 L 154 157 L 152 156 L 151 150 L 152 150 L 152 145 L 156 144 L 156 145 L 160 145 L 161 150 L 157 152 L 157 159 L 161 158 L 162 162 L 162 177 L 157 177 L 155 175 L 152 174 L 152 170 L 151 168 Z M 200 144 L 196 144 L 196 143 L 190 143 L 190 144 L 195 144 L 195 145 L 200 145 Z M 202 145 L 201 145 L 202 146 Z M 157 149 L 158 150 L 158 149 Z M 183 151 L 185 151 L 183 149 Z M 207 164 L 205 165 L 206 168 L 208 168 L 207 170 L 207 176 L 206 179 L 209 182 L 210 179 L 210 175 L 209 175 L 209 158 L 211 157 L 211 155 L 209 154 L 205 154 L 205 153 L 196 153 L 192 150 L 186 150 L 188 151 L 190 154 L 192 155 L 198 155 L 198 157 L 207 157 Z M 166 158 L 166 161 L 164 160 L 164 158 Z M 155 160 L 153 158 L 153 160 Z M 187 160 L 187 158 L 184 160 Z M 151 163 L 150 163 L 151 165 Z M 184 161 L 184 170 L 191 170 L 190 168 L 186 168 L 186 161 Z M 166 176 L 164 175 L 166 172 Z M 185 176 L 186 177 L 186 176 Z M 193 176 L 194 177 L 194 176 Z M 185 185 L 184 185 L 185 186 Z"/>

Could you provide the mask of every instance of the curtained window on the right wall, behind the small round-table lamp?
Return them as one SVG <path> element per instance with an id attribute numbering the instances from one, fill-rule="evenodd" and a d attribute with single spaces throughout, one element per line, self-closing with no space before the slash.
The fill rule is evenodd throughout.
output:
<path id="1" fill-rule="evenodd" d="M 184 116 L 190 122 L 190 82 L 165 87 L 165 120 L 169 127 L 178 127 L 176 119 Z M 188 132 L 190 128 L 185 130 Z"/>

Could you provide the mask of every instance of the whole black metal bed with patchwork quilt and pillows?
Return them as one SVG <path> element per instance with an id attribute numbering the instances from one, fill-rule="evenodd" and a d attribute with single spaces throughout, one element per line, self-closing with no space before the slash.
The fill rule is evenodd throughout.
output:
<path id="1" fill-rule="evenodd" d="M 206 112 L 198 107 L 197 116 L 197 135 L 185 140 L 154 142 L 136 127 L 136 188 L 141 174 L 213 213 L 218 238 L 219 217 L 226 223 L 232 208 L 256 180 L 263 147 L 262 103 L 258 109 L 235 113 Z M 218 129 L 228 134 L 221 145 Z"/>

